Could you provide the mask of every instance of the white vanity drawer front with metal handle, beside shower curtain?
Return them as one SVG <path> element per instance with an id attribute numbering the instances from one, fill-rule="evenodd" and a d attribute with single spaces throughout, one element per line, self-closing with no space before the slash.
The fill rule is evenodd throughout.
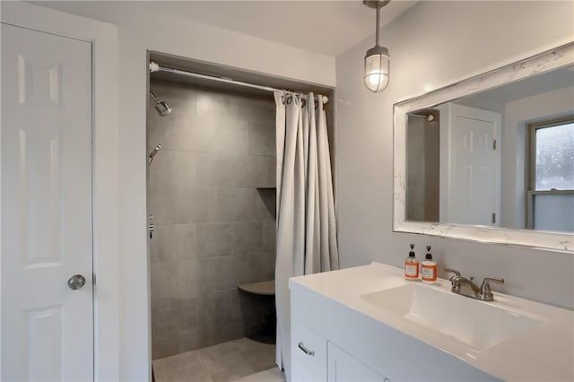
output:
<path id="1" fill-rule="evenodd" d="M 326 339 L 297 320 L 291 321 L 291 380 L 326 381 Z"/>

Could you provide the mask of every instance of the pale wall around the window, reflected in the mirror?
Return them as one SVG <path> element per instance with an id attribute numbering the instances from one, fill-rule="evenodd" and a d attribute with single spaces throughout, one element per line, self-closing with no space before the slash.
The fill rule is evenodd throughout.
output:
<path id="1" fill-rule="evenodd" d="M 574 87 L 547 91 L 506 104 L 502 129 L 501 213 L 503 227 L 526 225 L 526 124 L 563 117 L 574 106 Z"/>

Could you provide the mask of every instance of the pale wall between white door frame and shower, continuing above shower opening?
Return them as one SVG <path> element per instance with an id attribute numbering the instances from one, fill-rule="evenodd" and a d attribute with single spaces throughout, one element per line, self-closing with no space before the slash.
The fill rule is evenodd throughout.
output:
<path id="1" fill-rule="evenodd" d="M 150 379 L 145 216 L 146 49 L 335 85 L 335 58 L 153 13 L 131 2 L 49 2 L 52 8 L 117 24 L 119 41 L 120 376 Z"/>

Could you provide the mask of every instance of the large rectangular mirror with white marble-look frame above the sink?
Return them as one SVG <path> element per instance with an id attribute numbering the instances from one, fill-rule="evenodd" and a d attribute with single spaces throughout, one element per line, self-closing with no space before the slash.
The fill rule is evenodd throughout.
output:
<path id="1" fill-rule="evenodd" d="M 574 43 L 395 105 L 394 230 L 574 251 Z"/>

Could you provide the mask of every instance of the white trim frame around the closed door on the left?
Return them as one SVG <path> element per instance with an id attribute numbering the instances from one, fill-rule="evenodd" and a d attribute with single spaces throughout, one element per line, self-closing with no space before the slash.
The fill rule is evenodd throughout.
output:
<path id="1" fill-rule="evenodd" d="M 0 19 L 91 43 L 93 376 L 119 380 L 117 27 L 23 2 L 2 2 Z"/>

